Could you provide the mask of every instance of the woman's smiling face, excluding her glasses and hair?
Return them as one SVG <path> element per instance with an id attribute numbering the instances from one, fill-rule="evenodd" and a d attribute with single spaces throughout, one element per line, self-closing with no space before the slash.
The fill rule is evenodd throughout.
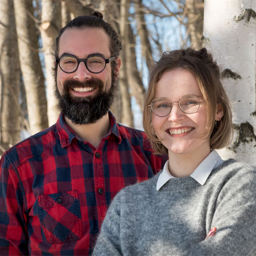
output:
<path id="1" fill-rule="evenodd" d="M 173 102 L 186 95 L 195 95 L 199 100 L 203 99 L 196 77 L 185 69 L 165 71 L 156 84 L 155 99 L 165 98 Z M 204 101 L 200 102 L 200 107 L 194 114 L 182 112 L 178 103 L 173 103 L 168 116 L 159 117 L 152 113 L 154 131 L 168 149 L 169 157 L 172 154 L 209 154 L 210 137 L 199 137 L 206 129 L 206 115 Z"/>

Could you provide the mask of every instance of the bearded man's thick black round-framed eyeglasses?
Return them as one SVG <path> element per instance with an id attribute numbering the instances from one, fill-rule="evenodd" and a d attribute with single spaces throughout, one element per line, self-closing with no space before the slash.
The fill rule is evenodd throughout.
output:
<path id="1" fill-rule="evenodd" d="M 115 60 L 115 57 L 105 59 L 103 56 L 97 54 L 92 54 L 86 59 L 78 59 L 71 54 L 65 54 L 60 58 L 55 58 L 56 63 L 58 63 L 60 69 L 65 73 L 75 72 L 79 63 L 82 61 L 91 73 L 97 74 L 105 69 L 106 63 L 110 63 L 113 60 Z"/>

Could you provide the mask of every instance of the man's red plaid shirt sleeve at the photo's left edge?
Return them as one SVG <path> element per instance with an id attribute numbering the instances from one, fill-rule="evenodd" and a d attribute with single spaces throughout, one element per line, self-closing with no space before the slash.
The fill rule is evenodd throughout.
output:
<path id="1" fill-rule="evenodd" d="M 0 255 L 28 255 L 22 184 L 6 155 L 0 160 Z"/>

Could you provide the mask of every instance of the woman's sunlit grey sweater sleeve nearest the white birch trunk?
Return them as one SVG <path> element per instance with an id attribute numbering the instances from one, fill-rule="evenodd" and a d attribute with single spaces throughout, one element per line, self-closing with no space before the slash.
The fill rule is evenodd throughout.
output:
<path id="1" fill-rule="evenodd" d="M 237 172 L 223 183 L 216 201 L 211 227 L 214 237 L 190 249 L 188 255 L 256 255 L 255 170 Z"/>

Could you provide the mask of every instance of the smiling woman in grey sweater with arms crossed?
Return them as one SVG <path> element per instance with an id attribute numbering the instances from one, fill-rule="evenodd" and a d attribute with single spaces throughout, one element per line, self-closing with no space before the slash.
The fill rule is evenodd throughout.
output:
<path id="1" fill-rule="evenodd" d="M 255 255 L 255 168 L 215 151 L 233 130 L 219 67 L 205 48 L 163 54 L 143 126 L 169 160 L 115 197 L 94 255 Z M 216 235 L 205 239 L 212 227 Z"/>

